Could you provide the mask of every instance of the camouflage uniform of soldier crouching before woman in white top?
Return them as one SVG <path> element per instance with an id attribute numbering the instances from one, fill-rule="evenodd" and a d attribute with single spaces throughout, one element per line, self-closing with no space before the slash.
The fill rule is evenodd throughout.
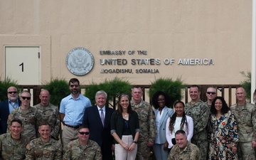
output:
<path id="1" fill-rule="evenodd" d="M 174 145 L 168 156 L 168 160 L 198 160 L 201 159 L 201 154 L 198 146 L 188 142 L 185 149 L 181 150 L 178 145 Z"/>

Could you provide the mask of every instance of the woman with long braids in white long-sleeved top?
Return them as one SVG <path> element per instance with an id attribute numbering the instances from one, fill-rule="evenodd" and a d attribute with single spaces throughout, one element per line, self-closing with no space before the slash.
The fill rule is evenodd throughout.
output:
<path id="1" fill-rule="evenodd" d="M 193 119 L 184 112 L 185 104 L 181 101 L 174 103 L 175 113 L 166 122 L 166 140 L 169 143 L 168 148 L 171 149 L 175 141 L 175 132 L 182 129 L 186 132 L 188 142 L 193 137 Z"/>

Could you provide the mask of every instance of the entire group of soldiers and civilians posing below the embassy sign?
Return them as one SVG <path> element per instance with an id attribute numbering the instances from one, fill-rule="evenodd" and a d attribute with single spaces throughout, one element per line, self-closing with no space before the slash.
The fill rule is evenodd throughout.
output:
<path id="1" fill-rule="evenodd" d="M 156 160 L 255 159 L 255 105 L 245 101 L 242 87 L 235 92 L 238 103 L 228 107 L 214 87 L 203 102 L 198 85 L 191 85 L 191 102 L 174 102 L 174 110 L 161 91 L 152 97 L 153 110 L 139 86 L 132 88 L 132 99 L 119 95 L 117 110 L 106 107 L 103 90 L 91 105 L 78 79 L 70 79 L 69 88 L 58 110 L 48 90 L 31 107 L 30 92 L 18 99 L 16 87 L 9 87 L 9 99 L 0 102 L 0 159 L 111 160 L 114 152 L 116 160 L 144 160 L 151 148 Z"/>

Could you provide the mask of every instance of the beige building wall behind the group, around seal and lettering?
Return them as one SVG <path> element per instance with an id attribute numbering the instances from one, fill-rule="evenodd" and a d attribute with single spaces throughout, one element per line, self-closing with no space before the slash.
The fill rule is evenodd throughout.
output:
<path id="1" fill-rule="evenodd" d="M 78 78 L 84 85 L 127 78 L 148 85 L 155 78 L 186 84 L 239 84 L 251 68 L 252 1 L 233 0 L 1 0 L 0 75 L 4 46 L 41 46 L 42 82 Z M 94 55 L 90 73 L 75 76 L 65 66 L 68 52 L 84 47 Z M 100 50 L 146 50 L 147 55 L 100 55 Z M 127 58 L 123 66 L 102 58 Z M 131 65 L 132 58 L 160 58 L 161 65 Z M 176 63 L 164 65 L 165 58 Z M 178 65 L 178 58 L 212 58 L 214 65 Z M 159 73 L 101 74 L 101 68 L 153 68 Z"/>

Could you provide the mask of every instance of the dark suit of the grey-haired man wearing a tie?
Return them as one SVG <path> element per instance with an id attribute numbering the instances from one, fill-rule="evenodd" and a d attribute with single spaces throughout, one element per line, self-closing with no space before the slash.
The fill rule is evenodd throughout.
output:
<path id="1" fill-rule="evenodd" d="M 82 125 L 85 125 L 90 130 L 89 139 L 97 142 L 102 149 L 102 159 L 112 159 L 112 144 L 114 144 L 114 138 L 110 134 L 110 118 L 114 110 L 109 107 L 105 107 L 105 125 L 103 127 L 99 110 L 97 105 L 87 107 L 85 109 L 85 115 L 82 120 Z"/>

